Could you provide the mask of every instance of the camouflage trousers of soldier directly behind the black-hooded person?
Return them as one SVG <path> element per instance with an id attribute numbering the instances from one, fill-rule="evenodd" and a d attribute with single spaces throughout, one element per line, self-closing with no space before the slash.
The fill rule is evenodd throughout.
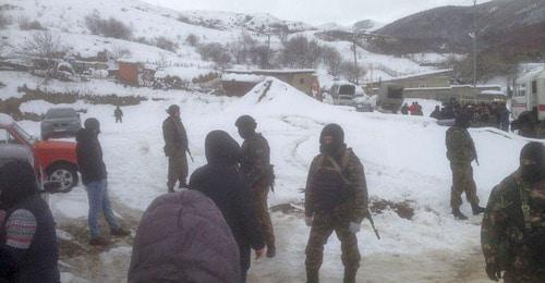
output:
<path id="1" fill-rule="evenodd" d="M 251 198 L 252 208 L 254 210 L 255 218 L 259 224 L 263 237 L 265 238 L 265 244 L 267 247 L 275 246 L 275 232 L 272 230 L 272 222 L 270 221 L 267 197 L 269 194 L 269 186 L 257 184 L 252 186 Z"/>

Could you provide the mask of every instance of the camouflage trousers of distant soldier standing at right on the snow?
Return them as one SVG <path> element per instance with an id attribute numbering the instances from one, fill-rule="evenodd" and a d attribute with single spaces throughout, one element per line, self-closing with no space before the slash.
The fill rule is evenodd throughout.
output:
<path id="1" fill-rule="evenodd" d="M 473 181 L 471 163 L 450 163 L 452 170 L 452 187 L 450 189 L 450 206 L 459 208 L 462 205 L 462 194 L 472 205 L 479 205 L 476 185 Z"/>

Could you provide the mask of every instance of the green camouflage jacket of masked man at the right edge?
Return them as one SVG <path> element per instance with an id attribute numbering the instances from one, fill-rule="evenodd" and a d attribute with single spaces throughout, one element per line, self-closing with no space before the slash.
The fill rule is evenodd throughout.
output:
<path id="1" fill-rule="evenodd" d="M 530 199 L 535 192 L 538 189 L 526 185 L 518 172 L 492 190 L 481 229 L 487 263 L 511 271 L 535 268 L 531 259 L 535 246 L 529 245 L 528 235 L 545 231 L 545 206 Z"/>

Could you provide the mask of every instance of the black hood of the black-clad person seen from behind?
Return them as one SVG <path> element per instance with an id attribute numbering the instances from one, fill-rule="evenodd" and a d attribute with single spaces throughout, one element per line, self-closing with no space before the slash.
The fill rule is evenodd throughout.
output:
<path id="1" fill-rule="evenodd" d="M 240 146 L 227 132 L 213 131 L 205 139 L 205 155 L 208 163 L 235 164 Z"/>

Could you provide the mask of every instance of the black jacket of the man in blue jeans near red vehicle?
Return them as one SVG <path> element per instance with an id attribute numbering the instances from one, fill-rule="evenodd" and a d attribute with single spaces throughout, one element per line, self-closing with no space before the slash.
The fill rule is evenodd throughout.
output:
<path id="1" fill-rule="evenodd" d="M 75 153 L 83 184 L 105 180 L 106 164 L 102 161 L 102 148 L 97 134 L 82 128 L 76 133 L 75 140 L 77 142 Z"/>

